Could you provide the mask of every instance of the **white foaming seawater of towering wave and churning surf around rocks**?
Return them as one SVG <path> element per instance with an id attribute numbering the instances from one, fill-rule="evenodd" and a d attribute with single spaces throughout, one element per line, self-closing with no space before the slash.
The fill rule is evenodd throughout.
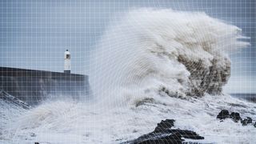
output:
<path id="1" fill-rule="evenodd" d="M 188 62 L 200 59 L 202 69 L 209 69 L 215 58 L 223 69 L 230 64 L 229 50 L 248 46 L 239 41 L 245 38 L 241 32 L 200 12 L 130 10 L 110 22 L 92 52 L 94 99 L 48 102 L 6 118 L 2 142 L 119 143 L 154 130 L 165 118 L 205 142 L 255 142 L 253 126 L 216 119 L 221 109 L 256 119 L 255 104 L 228 95 L 189 97 L 198 80 L 178 61 L 180 55 Z"/>

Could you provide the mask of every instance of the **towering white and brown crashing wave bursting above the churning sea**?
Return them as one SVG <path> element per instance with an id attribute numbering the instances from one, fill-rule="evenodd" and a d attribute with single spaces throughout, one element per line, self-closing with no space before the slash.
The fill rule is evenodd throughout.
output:
<path id="1" fill-rule="evenodd" d="M 103 35 L 90 83 L 104 101 L 119 88 L 179 98 L 221 94 L 230 77 L 226 51 L 249 45 L 241 31 L 199 12 L 132 10 Z"/>

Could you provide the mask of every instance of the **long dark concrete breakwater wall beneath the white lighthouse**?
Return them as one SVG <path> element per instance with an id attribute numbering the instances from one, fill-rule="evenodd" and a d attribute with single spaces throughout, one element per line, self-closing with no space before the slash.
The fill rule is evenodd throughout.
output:
<path id="1" fill-rule="evenodd" d="M 90 95 L 87 75 L 0 67 L 0 90 L 36 105 L 47 98 L 86 99 Z"/>

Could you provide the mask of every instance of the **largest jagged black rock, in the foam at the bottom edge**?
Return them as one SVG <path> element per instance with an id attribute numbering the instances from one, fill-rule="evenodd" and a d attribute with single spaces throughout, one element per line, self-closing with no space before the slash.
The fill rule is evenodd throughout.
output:
<path id="1" fill-rule="evenodd" d="M 180 130 L 180 129 L 171 129 L 174 126 L 174 119 L 166 119 L 158 123 L 158 126 L 154 129 L 153 132 L 149 134 L 144 134 L 139 138 L 136 138 L 132 141 L 124 142 L 131 144 L 146 144 L 146 143 L 183 143 L 185 140 L 182 138 L 188 139 L 204 139 L 202 136 L 196 134 L 194 131 L 190 130 Z M 192 142 L 193 143 L 193 142 Z"/>

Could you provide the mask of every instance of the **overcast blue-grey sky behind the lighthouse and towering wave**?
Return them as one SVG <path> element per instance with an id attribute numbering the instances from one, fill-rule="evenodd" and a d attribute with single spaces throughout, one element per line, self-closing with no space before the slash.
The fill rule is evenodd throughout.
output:
<path id="1" fill-rule="evenodd" d="M 69 49 L 72 72 L 90 69 L 94 50 L 110 18 L 134 7 L 204 11 L 242 28 L 251 46 L 230 53 L 232 77 L 226 91 L 256 93 L 254 0 L 2 0 L 0 2 L 0 66 L 63 70 Z"/>

